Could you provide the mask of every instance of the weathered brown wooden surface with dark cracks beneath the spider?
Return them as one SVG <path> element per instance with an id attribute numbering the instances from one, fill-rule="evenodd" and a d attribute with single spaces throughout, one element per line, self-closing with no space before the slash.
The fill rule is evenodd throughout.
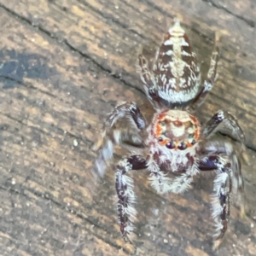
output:
<path id="1" fill-rule="evenodd" d="M 230 110 L 247 137 L 247 216 L 232 207 L 215 252 L 208 235 L 212 176 L 197 177 L 185 195 L 156 195 L 146 173 L 132 175 L 134 245 L 119 236 L 113 170 L 91 189 L 90 147 L 106 113 L 127 99 L 153 113 L 137 54 L 154 55 L 176 16 L 203 77 L 214 32 L 221 35 L 219 79 L 198 118 Z M 0 254 L 255 255 L 255 17 L 253 0 L 0 0 Z"/>

